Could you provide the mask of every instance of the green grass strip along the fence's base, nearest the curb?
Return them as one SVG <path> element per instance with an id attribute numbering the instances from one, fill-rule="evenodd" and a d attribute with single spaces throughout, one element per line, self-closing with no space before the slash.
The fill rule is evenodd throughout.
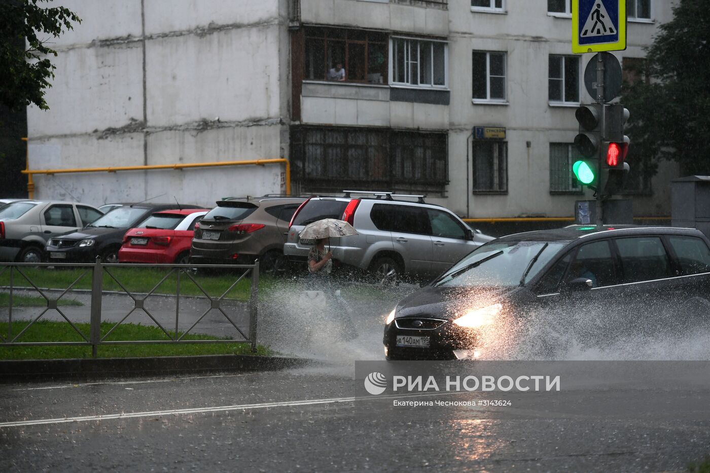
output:
<path id="1" fill-rule="evenodd" d="M 12 322 L 13 336 L 20 333 L 28 321 L 19 320 Z M 89 324 L 75 324 L 84 335 L 89 337 Z M 102 337 L 111 330 L 114 323 L 104 322 L 101 325 Z M 8 325 L 0 325 L 0 335 L 7 337 Z M 170 332 L 171 336 L 174 332 Z M 121 324 L 111 332 L 107 341 L 119 340 L 165 340 L 163 330 L 158 327 L 145 327 L 136 324 Z M 190 340 L 216 340 L 226 339 L 210 335 L 188 334 L 185 339 Z M 81 342 L 82 337 L 75 332 L 66 322 L 52 322 L 42 320 L 35 322 L 23 333 L 17 342 Z M 65 359 L 65 358 L 91 358 L 92 347 L 76 346 L 42 346 L 42 347 L 0 347 L 0 359 Z M 252 354 L 251 345 L 245 343 L 214 343 L 214 344 L 126 344 L 103 345 L 98 347 L 99 358 L 131 358 L 131 357 L 175 357 L 194 356 L 207 354 Z M 258 345 L 258 355 L 270 356 L 273 354 L 268 347 Z"/>

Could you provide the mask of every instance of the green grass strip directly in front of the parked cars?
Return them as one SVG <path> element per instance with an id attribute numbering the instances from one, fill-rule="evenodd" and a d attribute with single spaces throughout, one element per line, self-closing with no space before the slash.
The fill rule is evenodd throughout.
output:
<path id="1" fill-rule="evenodd" d="M 1 270 L 1 268 L 0 268 Z M 170 271 L 168 268 L 107 268 L 115 278 L 132 293 L 148 293 L 156 284 Z M 92 271 L 91 268 L 21 268 L 21 271 L 35 283 L 38 288 L 66 289 L 79 278 L 84 271 L 86 274 L 80 278 L 72 289 L 91 289 Z M 192 276 L 200 283 L 200 286 L 212 296 L 219 296 L 229 289 L 234 281 L 241 275 L 243 270 L 234 269 L 233 273 L 222 273 L 214 276 L 203 276 L 199 274 Z M 171 274 L 160 286 L 155 289 L 158 294 L 175 294 L 178 276 Z M 268 285 L 268 281 L 265 282 Z M 10 271 L 6 269 L 0 273 L 0 286 L 9 286 Z M 18 271 L 13 271 L 13 286 L 31 287 L 31 284 Z M 114 278 L 104 271 L 103 290 L 123 289 Z M 239 281 L 234 288 L 225 296 L 228 299 L 249 300 L 251 291 L 251 275 L 247 275 Z M 204 295 L 202 290 L 195 285 L 185 273 L 180 274 L 180 294 L 182 295 Z"/>

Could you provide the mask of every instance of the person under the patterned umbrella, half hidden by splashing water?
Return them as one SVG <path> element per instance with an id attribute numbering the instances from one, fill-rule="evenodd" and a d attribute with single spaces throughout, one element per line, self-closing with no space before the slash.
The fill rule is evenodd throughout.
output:
<path id="1" fill-rule="evenodd" d="M 311 290 L 322 291 L 323 295 L 335 300 L 342 310 L 332 310 L 332 315 L 337 317 L 337 324 L 346 340 L 356 338 L 357 332 L 354 327 L 351 315 L 353 310 L 349 303 L 340 295 L 340 290 L 334 287 L 334 282 L 330 276 L 333 271 L 333 254 L 325 249 L 325 245 L 330 244 L 328 238 L 317 239 L 315 245 L 308 252 L 308 273 L 311 278 Z"/>

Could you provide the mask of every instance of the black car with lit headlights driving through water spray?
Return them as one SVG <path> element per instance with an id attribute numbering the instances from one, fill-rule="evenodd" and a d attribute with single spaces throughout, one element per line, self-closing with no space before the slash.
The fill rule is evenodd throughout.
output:
<path id="1" fill-rule="evenodd" d="M 708 327 L 709 300 L 710 241 L 696 229 L 526 232 L 480 246 L 401 300 L 383 343 L 387 359 L 492 358 L 484 337 L 520 333 L 531 314 L 550 330 L 581 320 L 591 337 L 668 334 Z"/>

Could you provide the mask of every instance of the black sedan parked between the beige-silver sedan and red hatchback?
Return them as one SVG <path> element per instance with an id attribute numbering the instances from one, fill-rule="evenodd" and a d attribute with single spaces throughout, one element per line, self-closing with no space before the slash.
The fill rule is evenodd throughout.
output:
<path id="1" fill-rule="evenodd" d="M 118 263 L 119 249 L 128 229 L 136 227 L 153 212 L 175 208 L 199 209 L 197 205 L 136 204 L 111 210 L 80 232 L 50 239 L 46 251 L 53 263 L 93 263 L 101 256 L 104 263 Z"/>

